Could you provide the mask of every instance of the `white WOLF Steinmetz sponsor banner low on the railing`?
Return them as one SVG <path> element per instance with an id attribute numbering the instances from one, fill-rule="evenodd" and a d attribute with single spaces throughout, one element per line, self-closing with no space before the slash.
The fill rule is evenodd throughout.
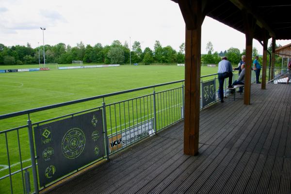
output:
<path id="1" fill-rule="evenodd" d="M 111 153 L 115 152 L 152 134 L 154 134 L 153 119 L 124 129 L 121 133 L 108 136 L 109 150 Z"/>

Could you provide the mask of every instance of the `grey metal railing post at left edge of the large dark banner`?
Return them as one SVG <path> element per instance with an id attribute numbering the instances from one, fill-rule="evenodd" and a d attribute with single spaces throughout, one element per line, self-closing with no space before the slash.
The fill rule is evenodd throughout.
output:
<path id="1" fill-rule="evenodd" d="M 33 133 L 32 133 L 32 121 L 30 120 L 30 116 L 28 115 L 28 136 L 29 136 L 29 145 L 30 145 L 30 153 L 32 159 L 32 176 L 33 176 L 33 186 L 35 194 L 38 194 L 38 179 L 37 179 L 37 171 L 36 171 L 36 163 L 35 163 L 35 154 L 34 154 L 34 143 L 33 143 Z"/>

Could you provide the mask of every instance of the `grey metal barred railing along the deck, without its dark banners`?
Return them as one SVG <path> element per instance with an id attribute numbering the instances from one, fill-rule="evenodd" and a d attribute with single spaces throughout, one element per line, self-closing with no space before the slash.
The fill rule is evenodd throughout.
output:
<path id="1" fill-rule="evenodd" d="M 235 73 L 233 76 L 233 81 L 236 80 L 237 77 L 238 74 Z M 202 105 L 202 100 L 204 97 L 201 92 L 200 109 L 216 103 L 219 99 L 219 84 L 217 73 L 201 76 L 201 86 L 205 82 L 211 80 L 215 82 L 215 86 L 213 88 L 215 99 L 208 104 Z M 224 86 L 225 96 L 229 94 L 229 91 L 226 89 L 227 81 L 228 80 L 226 79 Z M 252 72 L 252 82 L 254 81 L 255 75 Z M 167 88 L 157 90 L 159 87 Z M 119 102 L 108 104 L 105 102 L 105 98 L 110 99 L 109 97 L 141 91 L 149 88 L 153 89 L 152 93 L 122 100 Z M 46 117 L 48 110 L 52 111 L 52 109 L 58 109 L 60 107 L 64 108 L 64 106 L 67 107 L 97 99 L 99 99 L 97 102 L 99 106 L 91 106 L 91 108 L 81 111 L 72 111 L 73 113 L 49 118 L 46 120 L 42 119 L 41 121 L 37 121 L 37 119 L 35 119 L 35 122 L 33 122 L 33 118 L 38 118 L 39 115 L 41 115 L 41 118 Z M 75 109 L 75 107 L 73 107 L 73 109 Z M 160 130 L 172 125 L 173 123 L 177 123 L 178 121 L 182 120 L 184 118 L 184 80 L 129 89 L 125 91 L 0 115 L 0 120 L 4 121 L 5 119 L 5 122 L 8 122 L 6 121 L 7 119 L 9 119 L 9 122 L 13 122 L 13 119 L 19 119 L 19 116 L 21 115 L 22 116 L 20 119 L 25 120 L 23 115 L 27 116 L 27 124 L 0 131 L 0 150 L 2 150 L 2 156 L 0 156 L 2 167 L 0 168 L 0 193 L 9 193 L 9 191 L 10 193 L 30 193 L 30 190 L 38 193 L 48 185 L 63 179 L 64 177 L 53 181 L 48 185 L 40 186 L 38 184 L 38 171 L 36 163 L 37 157 L 35 157 L 33 127 L 44 123 L 70 118 L 75 115 L 80 115 L 82 113 L 90 112 L 93 110 L 102 110 L 104 126 L 103 133 L 105 134 L 104 141 L 106 144 L 106 156 L 97 159 L 93 162 L 95 163 L 101 159 L 108 159 L 110 155 L 124 149 L 132 143 L 154 135 Z M 146 128 L 148 133 L 140 135 L 138 131 L 143 128 Z M 124 136 L 126 140 L 125 142 L 120 142 L 122 136 Z M 30 147 L 29 151 L 28 147 Z M 6 153 L 4 153 L 3 150 L 6 150 Z M 83 166 L 80 169 L 76 169 L 74 172 L 71 172 L 66 176 L 78 172 L 86 166 Z M 29 176 L 30 173 L 32 173 L 32 177 Z M 31 182 L 33 182 L 32 185 Z"/>

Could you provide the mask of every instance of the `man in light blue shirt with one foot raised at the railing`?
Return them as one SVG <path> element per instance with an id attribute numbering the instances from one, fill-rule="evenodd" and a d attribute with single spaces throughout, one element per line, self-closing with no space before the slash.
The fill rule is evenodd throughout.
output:
<path id="1" fill-rule="evenodd" d="M 233 88 L 232 84 L 232 66 L 226 57 L 223 57 L 222 60 L 218 63 L 218 82 L 219 82 L 219 97 L 220 102 L 224 102 L 223 98 L 223 84 L 224 80 L 228 77 L 228 88 Z"/>

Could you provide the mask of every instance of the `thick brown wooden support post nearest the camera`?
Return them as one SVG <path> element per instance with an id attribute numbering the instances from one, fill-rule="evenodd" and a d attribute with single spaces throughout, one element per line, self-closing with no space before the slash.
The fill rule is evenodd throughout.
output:
<path id="1" fill-rule="evenodd" d="M 198 154 L 200 114 L 201 0 L 178 0 L 186 23 L 184 154 Z"/>

